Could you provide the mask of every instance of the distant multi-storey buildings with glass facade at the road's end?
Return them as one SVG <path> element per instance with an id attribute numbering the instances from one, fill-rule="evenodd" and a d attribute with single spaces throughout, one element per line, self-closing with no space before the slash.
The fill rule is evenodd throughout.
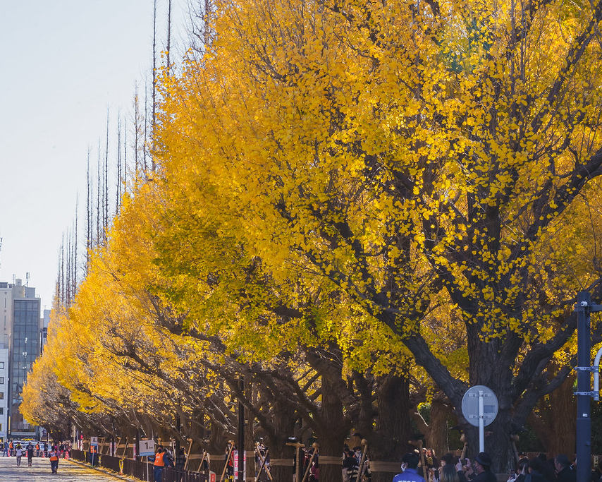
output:
<path id="1" fill-rule="evenodd" d="M 0 438 L 37 438 L 37 427 L 20 414 L 23 385 L 45 341 L 35 288 L 20 279 L 0 282 Z M 44 310 L 44 318 L 47 318 Z"/>

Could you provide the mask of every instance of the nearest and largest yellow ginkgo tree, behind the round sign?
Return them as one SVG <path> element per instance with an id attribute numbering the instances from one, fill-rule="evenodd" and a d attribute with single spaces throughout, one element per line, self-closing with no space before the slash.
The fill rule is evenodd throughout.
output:
<path id="1" fill-rule="evenodd" d="M 211 186 L 274 279 L 328 279 L 456 409 L 491 387 L 496 470 L 570 368 L 547 371 L 575 291 L 599 289 L 601 17 L 600 2 L 222 1 L 207 54 L 164 83 L 157 155 L 191 205 Z M 441 303 L 467 380 L 434 349 Z"/>

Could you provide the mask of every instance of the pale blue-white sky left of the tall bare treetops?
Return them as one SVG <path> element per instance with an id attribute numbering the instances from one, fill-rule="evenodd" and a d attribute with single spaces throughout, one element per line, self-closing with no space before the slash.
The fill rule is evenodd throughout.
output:
<path id="1" fill-rule="evenodd" d="M 167 1 L 157 4 L 158 50 Z M 185 7 L 172 0 L 180 44 Z M 25 284 L 29 272 L 42 307 L 51 308 L 78 196 L 85 233 L 88 149 L 95 162 L 107 109 L 115 149 L 118 109 L 130 123 L 135 83 L 143 90 L 149 78 L 152 15 L 152 0 L 0 0 L 0 281 Z"/>

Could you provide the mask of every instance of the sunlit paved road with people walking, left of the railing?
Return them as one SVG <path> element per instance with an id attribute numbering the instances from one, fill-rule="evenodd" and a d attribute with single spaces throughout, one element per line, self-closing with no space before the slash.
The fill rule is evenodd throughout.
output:
<path id="1" fill-rule="evenodd" d="M 121 480 L 135 480 L 120 477 Z M 89 469 L 75 462 L 61 459 L 59 472 L 52 474 L 48 459 L 33 458 L 32 466 L 27 466 L 27 457 L 21 459 L 21 466 L 17 466 L 16 457 L 0 457 L 1 482 L 118 482 L 120 478 L 103 474 Z"/>

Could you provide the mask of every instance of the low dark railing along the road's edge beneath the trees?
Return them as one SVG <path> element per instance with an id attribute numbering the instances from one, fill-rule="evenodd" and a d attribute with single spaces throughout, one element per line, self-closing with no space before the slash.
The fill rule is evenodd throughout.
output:
<path id="1" fill-rule="evenodd" d="M 71 458 L 80 462 L 86 462 L 95 466 L 101 466 L 118 474 L 140 478 L 141 481 L 154 482 L 152 462 L 141 462 L 133 459 L 119 459 L 111 455 L 94 454 L 94 460 L 90 459 L 90 452 L 83 450 L 71 450 Z M 176 470 L 167 467 L 163 471 L 163 482 L 207 482 L 207 476 L 188 470 Z"/>

